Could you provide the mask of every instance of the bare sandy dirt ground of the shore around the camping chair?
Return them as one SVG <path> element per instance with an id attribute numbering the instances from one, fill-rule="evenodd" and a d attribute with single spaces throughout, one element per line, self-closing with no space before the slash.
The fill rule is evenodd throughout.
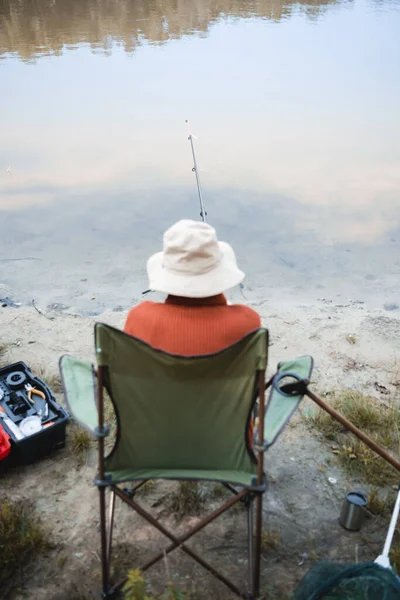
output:
<path id="1" fill-rule="evenodd" d="M 400 384 L 399 312 L 368 310 L 362 303 L 320 299 L 314 304 L 280 306 L 249 299 L 271 332 L 270 367 L 279 360 L 311 354 L 315 358 L 313 389 L 356 388 L 382 401 L 395 397 Z M 34 308 L 0 309 L 0 345 L 6 347 L 3 363 L 24 360 L 33 372 L 52 380 L 58 358 L 69 353 L 93 359 L 93 323 L 122 326 L 126 314 L 108 312 L 99 317 L 70 315 L 53 310 L 39 314 Z M 62 397 L 58 394 L 60 402 Z M 312 410 L 304 404 L 302 411 Z M 14 590 L 3 598 L 20 600 L 78 600 L 99 597 L 98 497 L 93 486 L 95 447 L 79 465 L 67 447 L 33 465 L 9 471 L 1 479 L 2 492 L 12 499 L 31 502 L 51 535 L 52 548 L 31 563 Z M 332 449 L 297 415 L 275 446 L 266 454 L 269 491 L 264 502 L 264 530 L 272 532 L 274 547 L 262 557 L 262 589 L 266 599 L 285 600 L 313 562 L 321 558 L 363 561 L 374 559 L 383 545 L 387 517 L 368 518 L 359 533 L 338 523 L 341 504 L 350 489 L 368 486 L 349 480 Z M 161 522 L 183 531 L 202 516 L 176 522 L 166 513 L 175 484 L 158 483 L 139 492 L 137 499 Z M 205 487 L 205 493 L 208 488 Z M 210 490 L 208 490 L 210 492 Z M 217 500 L 206 493 L 204 512 Z M 140 517 L 118 505 L 115 529 L 114 573 L 124 574 L 165 544 Z M 196 538 L 195 538 L 196 539 Z M 168 544 L 168 542 L 167 542 Z M 246 577 L 246 513 L 234 510 L 208 526 L 190 543 L 234 581 Z M 181 551 L 168 559 L 169 576 L 182 588 L 195 589 L 198 598 L 229 599 L 224 586 L 215 583 Z M 146 575 L 151 592 L 163 589 L 168 575 L 160 563 Z"/>

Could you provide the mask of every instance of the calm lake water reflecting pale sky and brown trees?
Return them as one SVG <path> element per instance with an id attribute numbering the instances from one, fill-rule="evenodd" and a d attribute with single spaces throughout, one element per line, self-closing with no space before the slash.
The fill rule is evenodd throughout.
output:
<path id="1" fill-rule="evenodd" d="M 400 304 L 400 1 L 2 0 L 0 92 L 0 297 L 138 301 L 189 117 L 248 298 Z"/>

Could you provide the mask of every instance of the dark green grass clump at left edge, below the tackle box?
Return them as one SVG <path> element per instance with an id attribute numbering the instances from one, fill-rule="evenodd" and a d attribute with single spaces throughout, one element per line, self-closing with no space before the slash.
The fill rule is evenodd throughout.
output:
<path id="1" fill-rule="evenodd" d="M 19 572 L 48 548 L 47 535 L 31 507 L 23 501 L 0 498 L 0 588 L 4 592 L 11 578 L 17 583 Z"/>

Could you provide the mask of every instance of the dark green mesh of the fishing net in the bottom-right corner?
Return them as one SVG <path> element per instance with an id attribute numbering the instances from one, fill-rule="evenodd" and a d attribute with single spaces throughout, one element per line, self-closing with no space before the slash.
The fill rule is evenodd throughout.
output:
<path id="1" fill-rule="evenodd" d="M 293 600 L 400 600 L 400 578 L 372 562 L 321 562 L 301 581 Z"/>

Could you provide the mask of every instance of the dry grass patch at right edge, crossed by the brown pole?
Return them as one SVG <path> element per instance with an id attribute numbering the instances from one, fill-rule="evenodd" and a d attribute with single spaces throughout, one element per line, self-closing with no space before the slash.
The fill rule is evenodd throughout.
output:
<path id="1" fill-rule="evenodd" d="M 398 454 L 400 410 L 393 402 L 380 404 L 370 396 L 348 390 L 334 395 L 330 404 L 379 446 Z M 398 483 L 398 473 L 393 467 L 325 411 L 318 409 L 306 420 L 334 442 L 333 452 L 350 475 L 375 486 Z"/>

